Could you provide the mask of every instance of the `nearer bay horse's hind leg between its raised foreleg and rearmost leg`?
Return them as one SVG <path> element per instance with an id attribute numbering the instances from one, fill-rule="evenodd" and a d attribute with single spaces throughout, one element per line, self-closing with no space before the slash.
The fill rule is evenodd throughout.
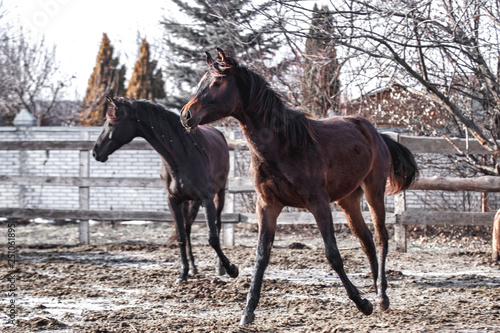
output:
<path id="1" fill-rule="evenodd" d="M 363 219 L 361 213 L 361 197 L 363 196 L 363 191 L 358 188 L 351 195 L 342 200 L 339 200 L 337 204 L 342 208 L 347 219 L 347 223 L 352 233 L 359 239 L 361 248 L 363 252 L 368 257 L 370 262 L 370 268 L 373 276 L 373 285 L 375 290 L 377 290 L 377 279 L 378 279 L 378 262 L 377 262 L 377 251 L 375 249 L 375 243 L 373 242 L 373 235 L 368 229 L 368 226 Z"/>

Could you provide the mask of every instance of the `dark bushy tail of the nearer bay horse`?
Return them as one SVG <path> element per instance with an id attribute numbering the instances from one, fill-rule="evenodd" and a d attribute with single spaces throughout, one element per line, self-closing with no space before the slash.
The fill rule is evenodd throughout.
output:
<path id="1" fill-rule="evenodd" d="M 410 187 L 418 176 L 418 167 L 411 151 L 394 141 L 386 134 L 381 134 L 391 153 L 391 171 L 387 184 L 387 195 L 397 194 Z"/>

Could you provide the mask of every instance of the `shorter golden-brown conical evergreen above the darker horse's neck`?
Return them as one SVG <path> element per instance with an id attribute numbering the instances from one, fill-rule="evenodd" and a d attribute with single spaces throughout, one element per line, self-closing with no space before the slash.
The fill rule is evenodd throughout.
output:
<path id="1" fill-rule="evenodd" d="M 158 62 L 149 59 L 149 44 L 146 39 L 143 39 L 139 49 L 139 59 L 135 63 L 125 97 L 137 99 L 162 99 L 166 97 L 161 69 L 155 72 Z"/>

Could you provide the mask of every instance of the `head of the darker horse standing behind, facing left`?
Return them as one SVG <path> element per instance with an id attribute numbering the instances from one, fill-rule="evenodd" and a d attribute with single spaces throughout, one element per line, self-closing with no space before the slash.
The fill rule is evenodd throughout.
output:
<path id="1" fill-rule="evenodd" d="M 109 106 L 106 122 L 97 138 L 92 155 L 99 162 L 106 162 L 108 156 L 136 137 L 137 122 L 129 117 L 129 105 L 122 99 L 106 97 Z"/>

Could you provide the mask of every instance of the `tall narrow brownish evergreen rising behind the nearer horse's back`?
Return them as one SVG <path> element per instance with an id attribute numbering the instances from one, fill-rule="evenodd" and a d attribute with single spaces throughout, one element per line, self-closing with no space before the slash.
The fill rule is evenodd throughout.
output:
<path id="1" fill-rule="evenodd" d="M 318 9 L 315 4 L 305 46 L 301 104 L 304 111 L 320 118 L 339 109 L 340 67 L 331 38 L 333 30 L 328 7 Z"/>

